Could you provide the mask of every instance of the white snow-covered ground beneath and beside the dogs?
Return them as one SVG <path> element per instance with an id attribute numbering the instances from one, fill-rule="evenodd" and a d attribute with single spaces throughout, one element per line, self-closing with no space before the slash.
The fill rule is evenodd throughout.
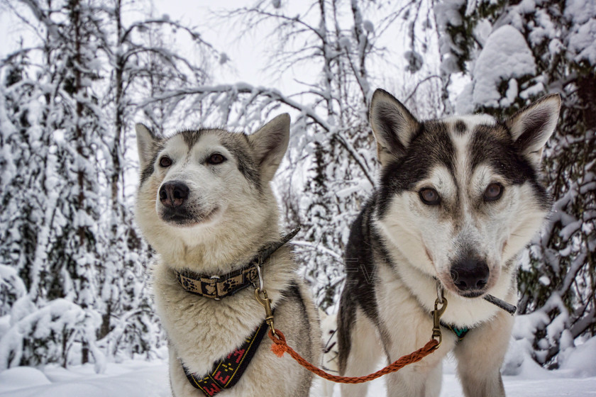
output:
<path id="1" fill-rule="evenodd" d="M 446 361 L 441 397 L 463 396 L 454 371 L 453 362 Z M 509 397 L 596 396 L 596 338 L 570 352 L 563 367 L 556 371 L 546 371 L 526 359 L 520 374 L 504 376 L 504 384 Z M 322 390 L 317 381 L 311 395 L 322 396 Z M 384 381 L 377 379 L 372 382 L 368 396 L 383 396 L 384 390 Z M 107 364 L 103 374 L 95 374 L 90 364 L 70 369 L 16 367 L 0 372 L 0 397 L 79 396 L 170 396 L 167 364 L 161 360 L 129 360 Z M 337 386 L 333 396 L 339 396 Z"/>

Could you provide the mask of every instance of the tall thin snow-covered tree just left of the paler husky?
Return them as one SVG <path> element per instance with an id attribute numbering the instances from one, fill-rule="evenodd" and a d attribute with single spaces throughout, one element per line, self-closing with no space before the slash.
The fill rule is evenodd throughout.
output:
<path id="1" fill-rule="evenodd" d="M 105 4 L 103 4 L 105 3 Z M 105 200 L 109 211 L 104 217 L 102 271 L 99 285 L 102 308 L 100 345 L 109 354 L 116 354 L 120 346 L 135 353 L 150 352 L 160 343 L 155 316 L 150 307 L 148 272 L 140 264 L 148 262 L 150 252 L 133 223 L 133 197 L 126 189 L 127 177 L 136 181 L 136 162 L 131 161 L 130 147 L 136 147 L 131 135 L 133 118 L 139 113 L 140 99 L 153 97 L 170 89 L 197 86 L 207 79 L 208 61 L 216 57 L 213 48 L 202 40 L 192 28 L 172 21 L 168 16 L 145 16 L 126 23 L 126 10 L 132 1 L 107 1 L 101 3 L 103 23 L 97 26 L 101 51 L 109 71 L 102 104 L 113 133 L 104 135 L 106 150 L 102 171 L 109 192 Z M 184 33 L 193 47 L 202 50 L 205 57 L 195 65 L 186 57 L 172 50 L 172 32 Z M 177 101 L 170 104 L 160 101 L 143 108 L 143 114 L 158 131 L 163 131 Z M 147 123 L 147 121 L 145 121 Z M 128 134 L 127 134 L 128 132 Z M 128 167 L 127 167 L 128 164 Z M 131 167 L 131 164 L 132 167 Z M 151 331 L 153 330 L 153 331 Z"/>

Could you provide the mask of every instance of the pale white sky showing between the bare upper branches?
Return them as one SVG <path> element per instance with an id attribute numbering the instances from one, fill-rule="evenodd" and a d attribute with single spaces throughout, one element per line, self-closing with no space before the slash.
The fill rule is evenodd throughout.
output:
<path id="1" fill-rule="evenodd" d="M 9 0 L 11 1 L 11 0 Z M 299 78 L 303 82 L 316 82 L 316 77 L 313 72 L 310 72 L 309 67 L 302 65 L 299 68 L 294 68 L 280 77 L 277 74 L 267 73 L 265 65 L 267 63 L 267 50 L 272 50 L 272 45 L 275 45 L 277 38 L 268 37 L 270 28 L 261 26 L 259 32 L 253 29 L 251 33 L 238 38 L 239 23 L 238 21 L 223 20 L 214 15 L 213 11 L 226 11 L 238 9 L 243 6 L 251 6 L 255 4 L 256 0 L 150 0 L 153 5 L 150 9 L 144 10 L 145 13 L 151 13 L 156 17 L 167 14 L 170 19 L 181 21 L 187 26 L 196 26 L 197 30 L 202 33 L 204 40 L 211 43 L 217 50 L 225 52 L 230 58 L 230 62 L 226 65 L 214 65 L 211 69 L 213 78 L 216 83 L 233 84 L 236 82 L 247 82 L 255 86 L 268 86 L 279 89 L 285 94 L 292 94 L 304 89 L 304 86 L 298 84 L 294 79 Z M 16 4 L 19 9 L 26 9 L 22 4 L 13 1 L 11 4 Z M 134 8 L 138 3 L 133 2 L 132 6 L 127 8 Z M 302 5 L 303 6 L 303 5 Z M 282 7 L 285 13 L 292 15 L 293 10 L 298 10 L 301 7 L 299 1 L 282 0 Z M 303 7 L 302 7 L 303 8 Z M 301 10 L 302 11 L 302 10 Z M 298 11 L 296 11 L 297 13 Z M 138 18 L 138 16 L 129 13 L 128 18 Z M 10 11 L 6 11 L 6 5 L 0 2 L 0 59 L 12 50 L 18 48 L 18 43 L 21 38 L 26 40 L 25 45 L 31 45 L 31 38 L 33 37 L 31 28 L 27 28 L 22 21 L 13 16 Z M 390 38 L 389 43 L 385 43 L 391 47 L 392 58 L 385 60 L 390 64 L 404 62 L 402 54 L 406 48 L 407 37 L 398 31 L 394 35 L 386 35 Z M 30 43 L 27 43 L 27 40 Z M 184 45 L 182 38 L 178 39 L 178 47 L 190 52 L 192 45 Z M 402 47 L 402 50 L 399 49 Z M 187 53 L 184 54 L 189 57 L 198 57 L 199 54 Z M 429 52 L 426 54 L 426 62 L 436 62 Z M 399 75 L 392 75 L 396 69 L 390 67 L 386 69 L 385 65 L 369 65 L 372 69 L 377 70 L 374 75 L 380 77 L 380 81 L 371 82 L 372 84 L 379 84 L 389 91 L 394 91 L 397 96 L 403 95 L 405 92 L 411 90 L 416 81 L 424 79 L 425 74 L 418 73 L 415 76 L 407 73 Z M 461 84 L 457 84 L 458 86 Z M 459 89 L 456 89 L 459 91 Z"/>

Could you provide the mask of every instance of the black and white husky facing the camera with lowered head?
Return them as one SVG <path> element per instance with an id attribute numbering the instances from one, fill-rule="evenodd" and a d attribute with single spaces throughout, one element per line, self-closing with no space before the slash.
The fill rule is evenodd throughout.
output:
<path id="1" fill-rule="evenodd" d="M 441 361 L 453 350 L 465 396 L 504 396 L 500 367 L 514 318 L 482 298 L 517 302 L 517 254 L 551 206 L 540 164 L 560 106 L 554 94 L 506 120 L 418 121 L 375 91 L 370 123 L 382 170 L 348 240 L 341 374 L 368 374 L 380 357 L 393 362 L 424 346 L 443 289 L 441 346 L 388 375 L 388 395 L 438 396 Z M 342 396 L 365 388 L 343 386 Z"/>

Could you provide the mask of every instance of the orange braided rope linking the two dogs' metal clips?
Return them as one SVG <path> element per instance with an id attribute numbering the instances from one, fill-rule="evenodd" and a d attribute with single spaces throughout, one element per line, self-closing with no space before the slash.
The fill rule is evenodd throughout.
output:
<path id="1" fill-rule="evenodd" d="M 402 369 L 403 367 L 407 366 L 408 364 L 412 364 L 414 362 L 419 362 L 424 357 L 428 356 L 432 352 L 434 352 L 438 347 L 438 340 L 431 339 L 424 347 L 412 354 L 407 354 L 407 356 L 401 357 L 394 361 L 392 364 L 387 365 L 387 367 L 376 371 L 373 374 L 366 375 L 366 376 L 338 376 L 329 374 L 322 369 L 315 367 L 313 364 L 307 362 L 304 358 L 300 356 L 297 352 L 287 345 L 285 340 L 284 334 L 280 330 L 275 330 L 277 337 L 275 337 L 271 330 L 269 330 L 269 337 L 273 341 L 273 345 L 271 345 L 271 351 L 277 355 L 277 357 L 282 357 L 285 352 L 288 352 L 292 358 L 294 358 L 298 364 L 302 365 L 302 367 L 308 369 L 313 374 L 321 376 L 321 378 L 327 379 L 329 381 L 338 382 L 341 384 L 361 384 L 364 382 L 372 381 L 373 379 L 380 378 L 383 375 L 391 374 L 392 372 L 397 371 L 398 369 Z"/>

